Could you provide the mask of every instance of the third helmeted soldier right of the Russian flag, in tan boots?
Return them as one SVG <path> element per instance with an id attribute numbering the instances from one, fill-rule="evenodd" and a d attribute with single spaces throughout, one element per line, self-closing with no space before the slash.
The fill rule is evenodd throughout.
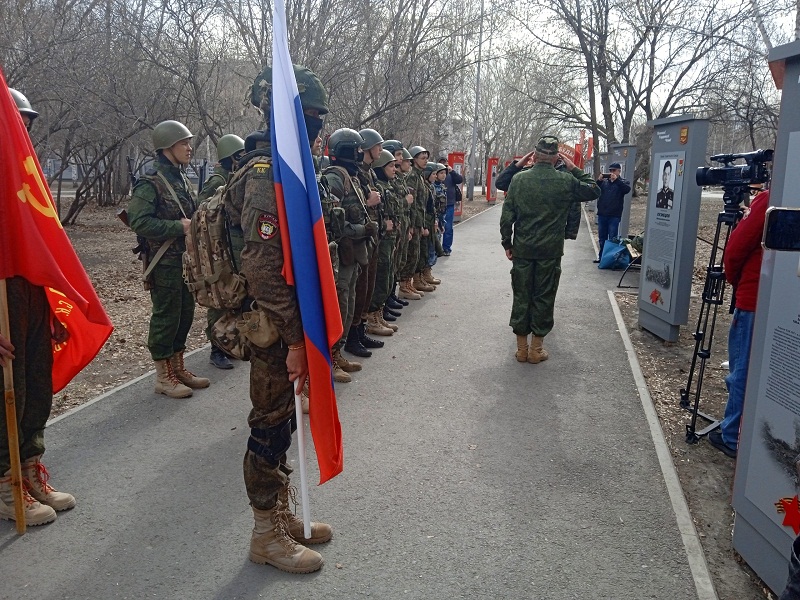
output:
<path id="1" fill-rule="evenodd" d="M 398 330 L 397 325 L 385 320 L 384 309 L 394 284 L 394 253 L 400 222 L 398 215 L 403 211 L 402 205 L 405 204 L 405 199 L 398 194 L 398 188 L 394 186 L 397 175 L 397 162 L 394 155 L 388 150 L 383 150 L 372 164 L 377 178 L 378 192 L 383 198 L 383 237 L 378 246 L 378 269 L 375 291 L 369 307 L 367 331 L 375 331 L 376 334 L 383 335 L 379 333 L 379 326 L 389 328 L 393 332 Z"/>

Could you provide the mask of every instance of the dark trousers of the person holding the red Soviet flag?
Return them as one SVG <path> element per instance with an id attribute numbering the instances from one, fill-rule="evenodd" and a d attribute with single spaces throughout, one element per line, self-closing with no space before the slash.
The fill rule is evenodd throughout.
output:
<path id="1" fill-rule="evenodd" d="M 22 277 L 6 280 L 20 459 L 44 452 L 44 428 L 53 407 L 50 305 L 44 288 Z M 69 342 L 67 342 L 69 343 Z M 5 386 L 3 371 L 0 384 Z M 0 410 L 0 477 L 11 468 L 6 411 Z"/>

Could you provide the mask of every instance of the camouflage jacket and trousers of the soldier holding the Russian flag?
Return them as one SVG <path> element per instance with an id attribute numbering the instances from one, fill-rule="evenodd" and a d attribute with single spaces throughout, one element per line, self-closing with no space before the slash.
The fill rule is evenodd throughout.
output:
<path id="1" fill-rule="evenodd" d="M 278 492 L 288 484 L 291 468 L 286 450 L 291 445 L 294 390 L 286 370 L 288 346 L 304 340 L 294 287 L 286 283 L 278 204 L 268 144 L 239 162 L 245 172 L 233 183 L 226 209 L 231 224 L 241 227 L 245 246 L 242 273 L 248 296 L 266 313 L 280 334 L 268 348 L 250 345 L 250 438 L 244 456 L 244 482 L 254 508 L 270 510 Z"/>

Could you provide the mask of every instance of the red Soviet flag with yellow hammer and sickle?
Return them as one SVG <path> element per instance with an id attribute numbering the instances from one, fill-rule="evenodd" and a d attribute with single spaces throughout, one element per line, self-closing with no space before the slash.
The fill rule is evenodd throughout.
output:
<path id="1" fill-rule="evenodd" d="M 0 278 L 19 275 L 44 287 L 50 308 L 66 327 L 69 339 L 53 344 L 57 392 L 91 362 L 114 328 L 61 226 L 2 71 L 0 165 Z"/>

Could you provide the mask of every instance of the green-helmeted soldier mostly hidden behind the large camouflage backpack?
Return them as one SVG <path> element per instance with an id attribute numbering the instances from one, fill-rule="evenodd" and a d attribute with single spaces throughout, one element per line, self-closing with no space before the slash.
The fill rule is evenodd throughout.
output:
<path id="1" fill-rule="evenodd" d="M 214 165 L 214 173 L 208 178 L 203 189 L 197 197 L 198 202 L 203 202 L 211 198 L 220 186 L 225 186 L 231 179 L 233 171 L 236 168 L 237 161 L 244 154 L 244 140 L 238 135 L 229 133 L 219 138 L 217 142 L 217 159 L 218 163 Z M 228 232 L 231 236 L 231 250 L 233 257 L 233 264 L 236 270 L 242 268 L 240 255 L 244 248 L 244 234 L 241 227 L 228 227 Z M 209 308 L 208 309 L 208 327 L 206 327 L 206 337 L 211 342 L 211 358 L 209 362 L 218 369 L 232 369 L 233 363 L 225 355 L 225 352 L 213 343 L 212 333 L 214 331 L 214 323 L 216 323 L 223 315 L 224 310 Z"/>

